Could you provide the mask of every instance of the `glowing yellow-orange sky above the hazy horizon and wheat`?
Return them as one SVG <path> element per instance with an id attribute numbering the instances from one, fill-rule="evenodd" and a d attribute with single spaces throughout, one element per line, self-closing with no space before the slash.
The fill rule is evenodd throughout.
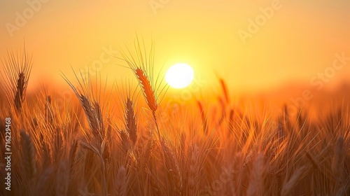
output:
<path id="1" fill-rule="evenodd" d="M 72 68 L 127 80 L 132 72 L 116 57 L 139 36 L 155 42 L 156 68 L 190 64 L 207 86 L 218 77 L 237 92 L 312 85 L 325 71 L 338 83 L 350 73 L 332 69 L 335 54 L 350 57 L 349 10 L 349 0 L 1 0 L 0 57 L 25 42 L 29 88 L 62 84 Z"/>

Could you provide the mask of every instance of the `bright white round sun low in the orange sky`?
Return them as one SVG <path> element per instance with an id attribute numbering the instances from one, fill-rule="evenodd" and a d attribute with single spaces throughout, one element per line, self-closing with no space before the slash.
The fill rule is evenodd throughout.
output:
<path id="1" fill-rule="evenodd" d="M 183 88 L 190 85 L 195 72 L 192 67 L 185 63 L 178 63 L 170 66 L 167 73 L 165 73 L 165 80 L 174 88 Z"/>

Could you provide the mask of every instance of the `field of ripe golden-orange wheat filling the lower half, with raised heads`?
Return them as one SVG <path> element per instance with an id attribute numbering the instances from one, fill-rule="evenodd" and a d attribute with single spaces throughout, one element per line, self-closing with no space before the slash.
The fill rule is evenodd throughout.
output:
<path id="1" fill-rule="evenodd" d="M 145 51 L 137 42 L 123 59 L 148 109 L 130 90 L 112 101 L 113 90 L 90 75 L 78 86 L 64 76 L 77 98 L 64 107 L 50 90 L 24 99 L 31 64 L 10 54 L 0 127 L 2 157 L 3 119 L 12 119 L 13 181 L 8 192 L 1 160 L 0 195 L 350 195 L 346 104 L 316 120 L 308 109 L 273 115 L 236 104 L 220 80 L 218 102 L 198 101 L 197 113 L 162 111 L 153 49 Z"/>

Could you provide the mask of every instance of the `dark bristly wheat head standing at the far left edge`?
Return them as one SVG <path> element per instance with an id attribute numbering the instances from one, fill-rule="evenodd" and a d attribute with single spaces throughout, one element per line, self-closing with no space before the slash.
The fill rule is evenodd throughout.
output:
<path id="1" fill-rule="evenodd" d="M 28 57 L 25 48 L 20 53 L 8 52 L 7 58 L 1 60 L 5 70 L 5 73 L 1 71 L 1 75 L 5 78 L 6 97 L 19 112 L 25 101 L 32 66 L 31 57 Z"/>

